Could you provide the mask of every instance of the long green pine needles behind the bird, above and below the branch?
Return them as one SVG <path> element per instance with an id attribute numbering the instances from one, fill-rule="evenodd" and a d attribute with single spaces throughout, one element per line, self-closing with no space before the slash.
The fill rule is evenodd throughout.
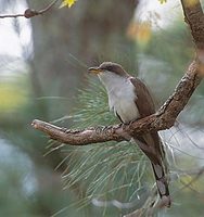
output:
<path id="1" fill-rule="evenodd" d="M 97 79 L 88 84 L 79 91 L 73 128 L 117 124 L 109 111 L 103 86 Z M 127 212 L 141 205 L 140 199 L 143 201 L 152 187 L 146 178 L 148 161 L 137 144 L 113 141 L 77 148 L 65 145 L 62 151 L 66 153 L 68 166 L 63 174 L 64 187 L 79 184 L 85 190 L 85 196 L 76 204 L 78 207 L 98 201 L 107 212 L 109 207 Z M 119 205 L 114 205 L 114 201 Z M 124 205 L 127 203 L 128 208 Z"/>

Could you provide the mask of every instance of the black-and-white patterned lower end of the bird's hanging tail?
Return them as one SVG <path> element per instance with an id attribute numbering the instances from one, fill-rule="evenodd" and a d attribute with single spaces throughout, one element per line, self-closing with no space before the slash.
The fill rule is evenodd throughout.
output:
<path id="1" fill-rule="evenodd" d="M 170 207 L 170 195 L 168 190 L 168 181 L 164 171 L 164 167 L 160 164 L 152 163 L 152 168 L 156 179 L 156 187 L 160 193 L 160 196 L 165 206 Z"/>

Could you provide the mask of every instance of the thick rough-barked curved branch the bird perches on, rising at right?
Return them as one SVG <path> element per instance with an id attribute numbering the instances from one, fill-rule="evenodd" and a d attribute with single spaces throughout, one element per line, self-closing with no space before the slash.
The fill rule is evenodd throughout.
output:
<path id="1" fill-rule="evenodd" d="M 204 49 L 204 16 L 199 0 L 190 5 L 188 0 L 181 0 L 186 22 L 200 53 Z M 52 139 L 73 145 L 86 145 L 105 141 L 129 140 L 132 135 L 168 129 L 179 113 L 184 108 L 192 93 L 202 79 L 203 60 L 201 55 L 191 63 L 187 73 L 179 81 L 174 93 L 168 98 L 156 114 L 136 120 L 129 125 L 109 126 L 105 129 L 87 128 L 82 130 L 67 130 L 41 120 L 34 120 L 33 126 L 50 136 Z"/>

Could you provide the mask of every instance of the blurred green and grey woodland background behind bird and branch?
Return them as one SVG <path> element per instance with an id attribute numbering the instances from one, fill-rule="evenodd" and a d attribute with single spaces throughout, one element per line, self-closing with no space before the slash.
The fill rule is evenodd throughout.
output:
<path id="1" fill-rule="evenodd" d="M 0 0 L 0 14 L 50 1 Z M 122 216 L 142 206 L 154 179 L 128 142 L 74 148 L 50 141 L 33 119 L 67 128 L 109 125 L 105 91 L 87 68 L 122 64 L 151 89 L 157 107 L 194 56 L 179 1 L 78 0 L 30 20 L 0 20 L 0 216 Z M 173 207 L 158 216 L 203 216 L 204 86 L 175 127 L 168 149 Z"/>

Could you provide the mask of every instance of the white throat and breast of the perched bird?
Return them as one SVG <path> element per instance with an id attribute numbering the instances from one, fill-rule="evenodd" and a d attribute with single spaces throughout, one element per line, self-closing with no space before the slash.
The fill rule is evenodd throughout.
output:
<path id="1" fill-rule="evenodd" d="M 137 95 L 131 81 L 112 73 L 100 74 L 99 77 L 107 90 L 110 110 L 117 113 L 124 123 L 137 119 L 139 117 L 135 103 Z"/>

